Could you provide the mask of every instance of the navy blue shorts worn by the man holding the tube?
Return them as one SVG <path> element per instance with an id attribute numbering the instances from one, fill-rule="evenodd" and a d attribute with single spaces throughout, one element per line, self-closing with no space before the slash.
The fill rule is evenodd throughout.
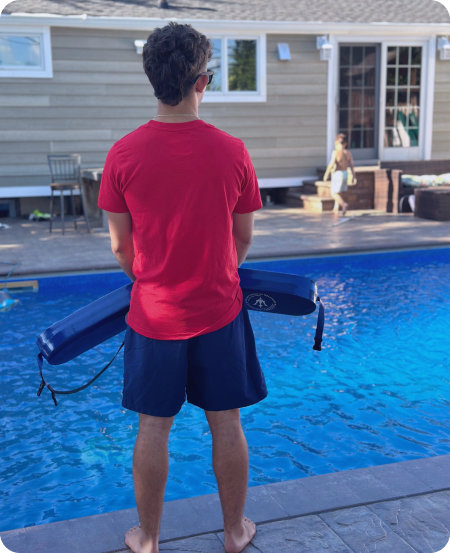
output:
<path id="1" fill-rule="evenodd" d="M 228 325 L 187 340 L 156 340 L 128 327 L 125 409 L 173 417 L 185 400 L 206 411 L 248 407 L 267 396 L 247 308 Z"/>

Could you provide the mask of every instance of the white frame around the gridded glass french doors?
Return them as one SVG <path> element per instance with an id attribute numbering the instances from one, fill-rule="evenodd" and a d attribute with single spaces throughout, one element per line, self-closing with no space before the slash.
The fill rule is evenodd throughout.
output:
<path id="1" fill-rule="evenodd" d="M 334 149 L 334 139 L 337 135 L 339 102 L 339 55 L 341 43 L 379 44 L 381 48 L 380 60 L 380 104 L 378 125 L 378 159 L 381 161 L 407 161 L 414 159 L 431 159 L 433 138 L 433 107 L 434 107 L 434 82 L 436 67 L 436 37 L 418 39 L 412 36 L 390 39 L 386 35 L 334 35 L 330 36 L 333 45 L 333 57 L 328 66 L 328 158 Z M 422 71 L 420 93 L 420 127 L 419 146 L 411 148 L 386 148 L 384 145 L 385 113 L 386 113 L 386 73 L 387 73 L 387 49 L 388 46 L 421 46 L 422 47 Z"/>

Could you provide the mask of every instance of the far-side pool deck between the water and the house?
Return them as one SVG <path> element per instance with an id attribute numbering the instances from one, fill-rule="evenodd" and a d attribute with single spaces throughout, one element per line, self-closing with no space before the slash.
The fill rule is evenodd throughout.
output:
<path id="1" fill-rule="evenodd" d="M 272 206 L 256 212 L 255 232 L 248 259 L 310 257 L 380 250 L 450 246 L 450 221 L 418 219 L 412 214 L 376 211 L 349 212 L 342 222 L 332 213 L 308 213 L 300 208 Z M 75 232 L 60 224 L 2 219 L 11 225 L 0 230 L 0 261 L 19 262 L 14 275 L 86 272 L 118 269 L 109 234 L 99 221 L 91 234 L 80 223 Z M 338 223 L 336 225 L 336 223 Z M 9 271 L 0 263 L 0 275 Z"/>

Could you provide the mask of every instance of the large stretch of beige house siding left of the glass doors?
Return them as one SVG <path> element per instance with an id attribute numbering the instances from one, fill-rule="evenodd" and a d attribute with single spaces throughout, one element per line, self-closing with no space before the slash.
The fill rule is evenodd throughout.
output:
<path id="1" fill-rule="evenodd" d="M 145 33 L 52 28 L 53 79 L 0 81 L 0 187 L 49 183 L 47 154 L 102 166 L 112 144 L 155 113 L 134 41 Z M 280 62 L 278 42 L 292 60 Z M 202 104 L 201 117 L 241 138 L 257 174 L 314 175 L 326 156 L 327 64 L 315 36 L 267 37 L 267 103 Z"/>

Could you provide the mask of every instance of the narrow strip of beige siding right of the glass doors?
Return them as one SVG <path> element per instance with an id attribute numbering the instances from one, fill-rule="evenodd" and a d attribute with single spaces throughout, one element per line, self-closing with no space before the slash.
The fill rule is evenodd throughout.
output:
<path id="1" fill-rule="evenodd" d="M 450 158 L 450 62 L 436 60 L 432 159 Z"/>

